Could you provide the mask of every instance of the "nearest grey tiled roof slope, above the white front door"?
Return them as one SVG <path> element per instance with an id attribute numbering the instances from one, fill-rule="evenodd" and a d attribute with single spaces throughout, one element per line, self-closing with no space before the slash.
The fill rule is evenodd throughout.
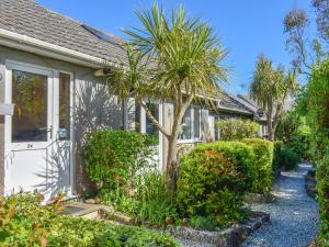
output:
<path id="1" fill-rule="evenodd" d="M 48 10 L 34 0 L 0 0 L 0 29 L 26 35 L 116 64 L 125 64 L 121 45 L 100 40 L 82 23 Z M 114 43 L 123 40 L 110 35 Z"/>

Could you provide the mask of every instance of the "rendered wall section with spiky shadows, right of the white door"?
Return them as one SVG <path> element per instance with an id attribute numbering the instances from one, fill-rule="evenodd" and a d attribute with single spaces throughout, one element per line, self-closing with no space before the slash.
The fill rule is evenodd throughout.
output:
<path id="1" fill-rule="evenodd" d="M 79 194 L 94 192 L 94 186 L 86 175 L 81 149 L 88 133 L 102 130 L 123 128 L 123 106 L 115 97 L 110 97 L 106 86 L 84 81 L 76 86 L 75 112 L 75 157 L 76 157 L 76 189 Z"/>

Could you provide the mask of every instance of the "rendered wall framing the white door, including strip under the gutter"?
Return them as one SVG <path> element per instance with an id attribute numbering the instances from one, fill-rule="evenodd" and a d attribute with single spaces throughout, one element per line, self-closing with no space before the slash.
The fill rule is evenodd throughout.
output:
<path id="1" fill-rule="evenodd" d="M 75 77 L 73 97 L 73 192 L 83 194 L 92 189 L 86 176 L 81 159 L 81 148 L 86 135 L 100 128 L 121 128 L 123 126 L 123 109 L 114 97 L 105 89 L 105 79 L 95 78 L 94 69 L 76 66 L 57 59 L 46 58 L 31 53 L 0 46 L 0 74 L 4 75 L 5 60 L 15 60 L 42 66 L 54 70 L 72 72 Z M 0 80 L 0 102 L 4 98 L 4 76 Z M 3 121 L 0 119 L 0 193 L 3 192 Z M 27 164 L 26 164 L 27 165 Z"/>

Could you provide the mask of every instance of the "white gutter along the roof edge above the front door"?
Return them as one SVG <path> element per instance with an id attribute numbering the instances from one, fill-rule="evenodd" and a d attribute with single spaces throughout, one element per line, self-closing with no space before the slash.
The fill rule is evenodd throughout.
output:
<path id="1" fill-rule="evenodd" d="M 0 29 L 0 45 L 31 52 L 38 55 L 69 61 L 90 68 L 117 67 L 120 65 L 104 60 L 99 57 L 90 56 L 80 52 L 68 49 L 58 45 L 43 42 L 26 35 Z"/>

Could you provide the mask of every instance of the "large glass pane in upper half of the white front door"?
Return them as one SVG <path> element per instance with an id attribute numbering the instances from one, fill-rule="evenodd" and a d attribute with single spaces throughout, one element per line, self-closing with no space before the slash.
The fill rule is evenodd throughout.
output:
<path id="1" fill-rule="evenodd" d="M 48 78 L 43 75 L 12 70 L 12 142 L 47 141 Z"/>

